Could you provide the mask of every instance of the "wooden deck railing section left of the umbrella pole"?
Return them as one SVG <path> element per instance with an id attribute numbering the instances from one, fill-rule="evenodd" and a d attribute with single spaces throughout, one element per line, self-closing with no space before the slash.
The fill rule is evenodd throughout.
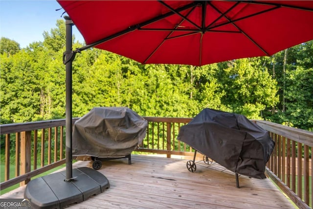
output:
<path id="1" fill-rule="evenodd" d="M 74 118 L 73 122 L 77 119 Z M 1 182 L 0 189 L 18 183 L 23 186 L 32 177 L 64 164 L 64 127 L 65 119 L 1 124 L 0 139 L 1 147 L 5 146 L 5 166 L 4 182 Z M 14 173 L 11 166 L 15 168 Z"/>

